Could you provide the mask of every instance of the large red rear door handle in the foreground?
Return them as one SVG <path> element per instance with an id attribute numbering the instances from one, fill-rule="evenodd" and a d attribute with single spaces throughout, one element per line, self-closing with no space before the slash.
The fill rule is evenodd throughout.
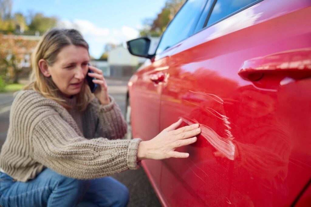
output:
<path id="1" fill-rule="evenodd" d="M 279 52 L 244 61 L 238 74 L 243 79 L 256 81 L 268 73 L 285 73 L 294 79 L 310 77 L 311 48 Z"/>

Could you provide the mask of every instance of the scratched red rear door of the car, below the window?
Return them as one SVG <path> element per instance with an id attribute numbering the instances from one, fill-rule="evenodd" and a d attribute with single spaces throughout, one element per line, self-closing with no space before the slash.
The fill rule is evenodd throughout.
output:
<path id="1" fill-rule="evenodd" d="M 165 205 L 288 206 L 309 182 L 310 14 L 308 1 L 265 0 L 172 53 L 160 130 L 181 117 L 183 125 L 199 123 L 202 133 L 177 149 L 189 158 L 163 160 Z M 240 76 L 254 60 L 257 80 Z M 297 70 L 258 73 L 259 66 L 286 64 Z M 299 66 L 307 71 L 303 77 Z"/>

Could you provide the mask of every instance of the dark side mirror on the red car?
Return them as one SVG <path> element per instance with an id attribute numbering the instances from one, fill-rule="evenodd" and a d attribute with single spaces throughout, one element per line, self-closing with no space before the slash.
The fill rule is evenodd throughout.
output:
<path id="1" fill-rule="evenodd" d="M 153 55 L 149 55 L 148 51 L 150 48 L 151 40 L 147 37 L 141 37 L 137 39 L 132 39 L 126 42 L 128 46 L 128 51 L 135 56 L 152 58 Z"/>

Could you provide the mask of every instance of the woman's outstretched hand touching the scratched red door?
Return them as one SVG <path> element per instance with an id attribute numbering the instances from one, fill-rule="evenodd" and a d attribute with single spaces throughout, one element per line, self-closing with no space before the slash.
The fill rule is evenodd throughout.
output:
<path id="1" fill-rule="evenodd" d="M 137 151 L 137 161 L 144 159 L 162 160 L 170 157 L 188 157 L 188 153 L 174 150 L 177 147 L 196 142 L 196 135 L 201 133 L 201 128 L 199 128 L 199 124 L 192 124 L 176 129 L 181 123 L 182 119 L 179 119 L 153 139 L 140 142 Z"/>

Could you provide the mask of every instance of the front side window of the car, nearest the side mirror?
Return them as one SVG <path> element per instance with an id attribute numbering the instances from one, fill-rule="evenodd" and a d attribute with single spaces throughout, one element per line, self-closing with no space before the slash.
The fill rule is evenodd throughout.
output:
<path id="1" fill-rule="evenodd" d="M 156 54 L 187 38 L 194 30 L 206 0 L 188 0 L 165 30 Z"/>

